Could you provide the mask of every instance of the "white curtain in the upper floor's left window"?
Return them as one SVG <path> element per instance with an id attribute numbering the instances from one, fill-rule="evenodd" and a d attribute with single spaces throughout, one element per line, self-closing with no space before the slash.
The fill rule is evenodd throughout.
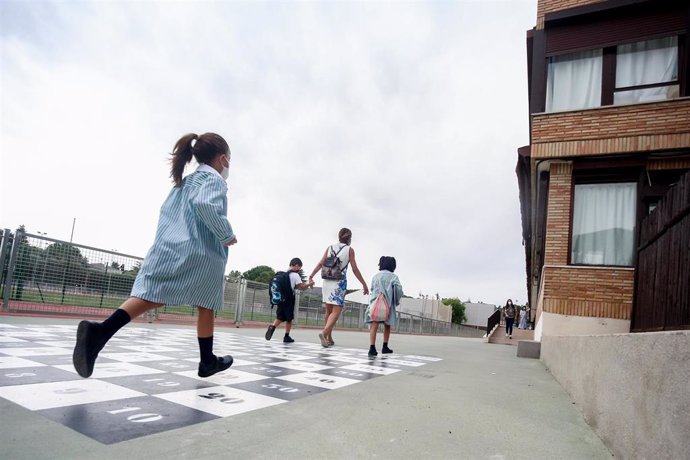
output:
<path id="1" fill-rule="evenodd" d="M 555 56 L 549 60 L 546 111 L 601 105 L 602 50 Z"/>

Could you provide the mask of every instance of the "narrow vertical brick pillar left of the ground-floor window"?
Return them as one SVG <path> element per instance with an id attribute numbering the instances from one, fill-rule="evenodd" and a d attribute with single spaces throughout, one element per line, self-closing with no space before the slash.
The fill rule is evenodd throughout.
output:
<path id="1" fill-rule="evenodd" d="M 544 262 L 547 265 L 568 263 L 572 171 L 573 166 L 570 163 L 551 165 L 544 250 Z"/>

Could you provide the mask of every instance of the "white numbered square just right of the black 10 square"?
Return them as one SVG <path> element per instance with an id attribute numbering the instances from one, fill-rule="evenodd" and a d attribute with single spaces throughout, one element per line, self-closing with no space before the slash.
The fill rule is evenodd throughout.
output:
<path id="1" fill-rule="evenodd" d="M 224 386 L 154 395 L 218 417 L 229 417 L 287 401 Z"/>

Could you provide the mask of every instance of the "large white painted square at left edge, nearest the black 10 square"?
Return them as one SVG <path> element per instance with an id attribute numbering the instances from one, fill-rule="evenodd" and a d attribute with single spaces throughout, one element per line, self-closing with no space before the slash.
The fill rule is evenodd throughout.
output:
<path id="1" fill-rule="evenodd" d="M 146 395 L 129 388 L 94 379 L 0 387 L 0 397 L 9 399 L 29 410 L 114 401 L 137 396 Z"/>

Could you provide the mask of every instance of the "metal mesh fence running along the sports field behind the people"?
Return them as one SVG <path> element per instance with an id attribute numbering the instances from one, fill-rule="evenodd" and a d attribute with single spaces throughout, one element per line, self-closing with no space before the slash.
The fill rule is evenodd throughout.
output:
<path id="1" fill-rule="evenodd" d="M 143 259 L 26 233 L 0 230 L 0 297 L 2 311 L 27 314 L 107 316 L 131 291 Z M 294 325 L 323 326 L 320 295 L 297 291 Z M 366 305 L 345 302 L 339 328 L 367 329 Z M 149 321 L 190 320 L 196 308 L 166 305 L 150 312 Z M 228 278 L 224 308 L 216 312 L 222 324 L 269 323 L 275 319 L 268 285 Z M 451 324 L 399 312 L 396 332 L 482 337 L 483 329 Z"/>

